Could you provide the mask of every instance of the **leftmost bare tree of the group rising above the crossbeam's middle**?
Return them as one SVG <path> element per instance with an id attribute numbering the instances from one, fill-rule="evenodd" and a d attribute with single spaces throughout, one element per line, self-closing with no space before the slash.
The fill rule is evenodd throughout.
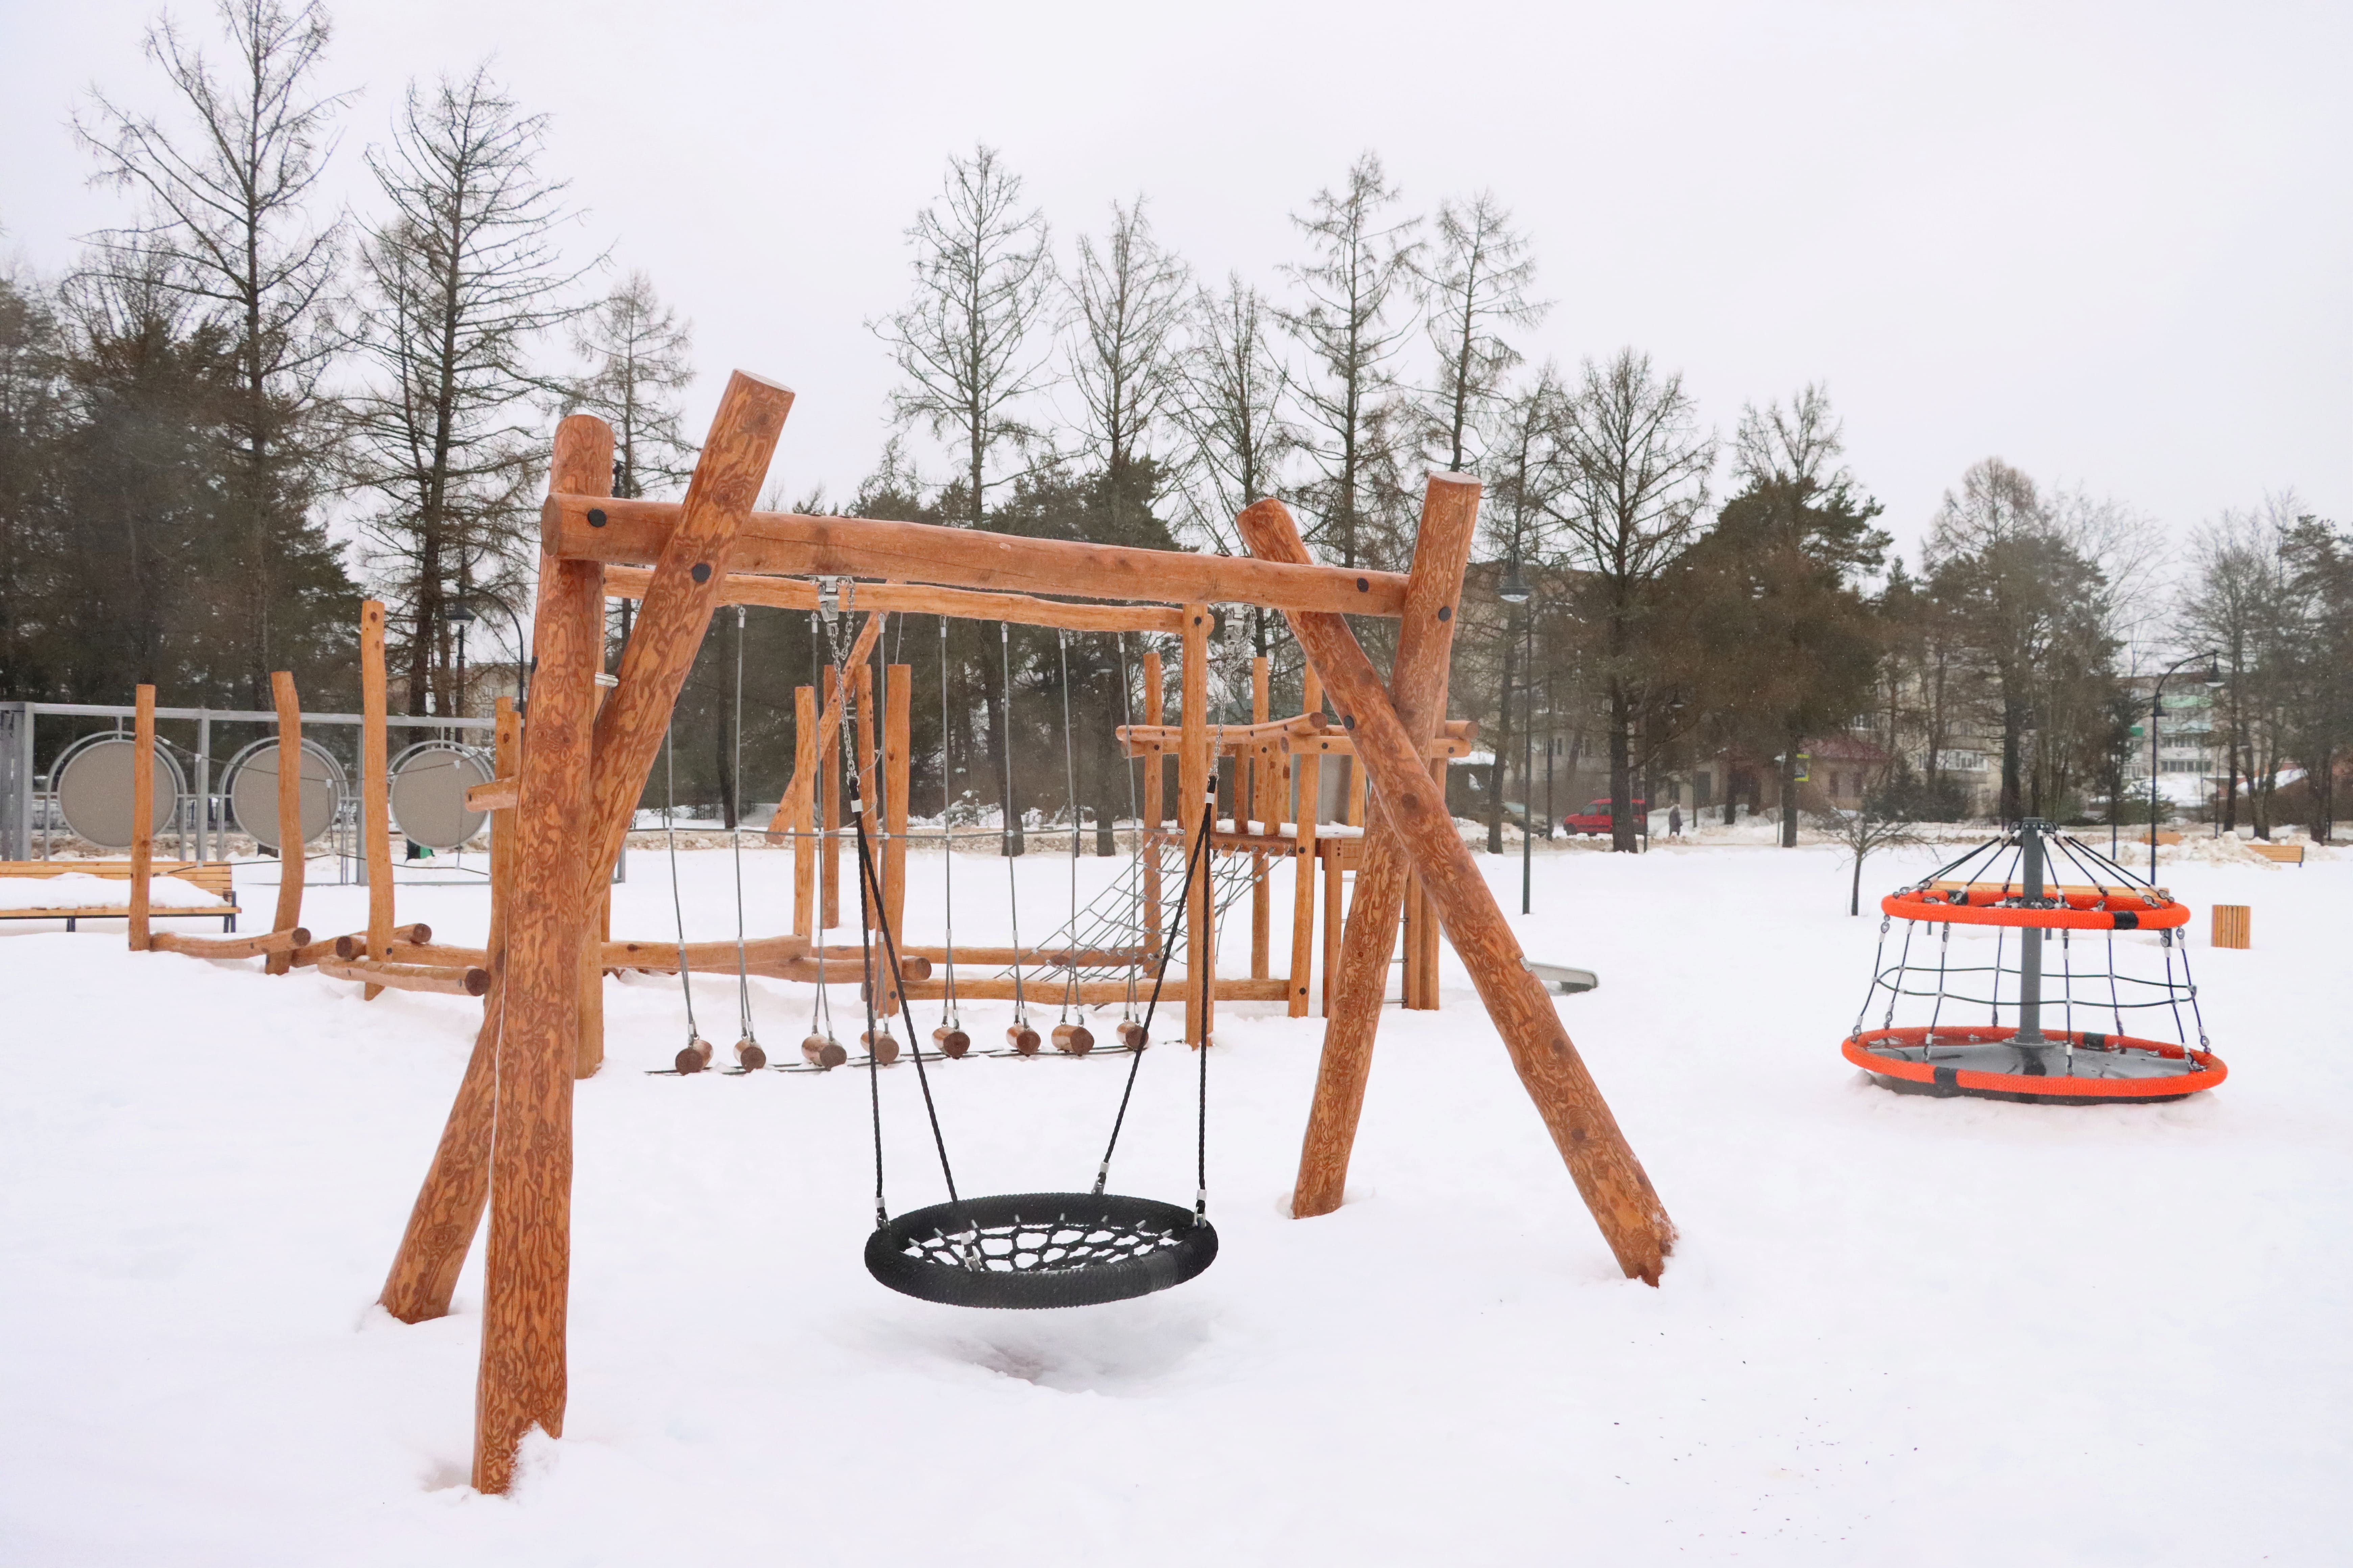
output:
<path id="1" fill-rule="evenodd" d="M 1021 207 L 1021 176 L 995 148 L 948 158 L 939 200 L 908 228 L 915 247 L 915 294 L 873 331 L 889 343 L 906 381 L 892 393 L 899 423 L 920 423 L 934 440 L 960 449 L 960 522 L 979 529 L 988 517 L 991 484 L 1016 475 L 993 473 L 1005 447 L 1028 449 L 1035 430 L 1024 404 L 1045 386 L 1040 346 L 1049 324 L 1054 266 L 1047 221 Z M 1005 851 L 1021 853 L 1014 809 L 1005 675 L 981 658 L 988 693 L 988 762 L 1005 813 Z"/>

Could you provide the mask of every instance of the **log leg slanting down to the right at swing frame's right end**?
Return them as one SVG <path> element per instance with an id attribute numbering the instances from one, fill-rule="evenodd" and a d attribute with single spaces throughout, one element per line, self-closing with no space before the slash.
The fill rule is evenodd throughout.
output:
<path id="1" fill-rule="evenodd" d="M 1254 552 L 1304 552 L 1299 531 L 1280 501 L 1259 501 L 1240 515 L 1242 538 Z M 1287 555 L 1275 555 L 1285 559 Z M 1417 552 L 1417 574 L 1419 574 Z M 1459 576 L 1457 576 L 1459 585 Z M 1400 679 L 1407 675 L 1405 639 L 1414 632 L 1417 609 L 1445 611 L 1452 621 L 1452 597 L 1438 607 L 1414 599 L 1407 588 L 1407 611 L 1400 635 Z M 1511 924 L 1494 903 L 1478 863 L 1464 846 L 1454 820 L 1445 809 L 1431 776 L 1424 771 L 1414 736 L 1407 731 L 1391 693 L 1381 689 L 1372 661 L 1358 646 L 1355 632 L 1341 616 L 1289 614 L 1292 635 L 1306 651 L 1308 663 L 1322 677 L 1325 693 L 1341 715 L 1341 724 L 1355 736 L 1358 757 L 1372 773 L 1381 795 L 1381 813 L 1395 835 L 1412 875 L 1421 879 L 1438 910 L 1454 952 L 1471 971 L 1480 1001 L 1494 1020 L 1497 1032 L 1511 1051 L 1511 1065 L 1520 1084 L 1537 1103 L 1544 1126 L 1553 1135 L 1577 1192 L 1586 1199 L 1609 1251 L 1631 1279 L 1659 1284 L 1659 1272 L 1675 1241 L 1675 1227 L 1659 1204 L 1642 1164 L 1626 1145 L 1626 1135 L 1609 1114 L 1607 1100 L 1593 1084 L 1560 1013 L 1544 983 L 1527 973 L 1520 961 L 1520 943 Z M 1367 865 L 1372 849 L 1367 846 Z M 1362 884 L 1360 884 L 1362 886 Z M 1362 900 L 1362 891 L 1358 893 Z M 1355 919 L 1348 929 L 1355 940 Z M 1384 943 L 1388 926 L 1384 924 Z M 1346 969 L 1346 959 L 1344 959 Z M 1339 1027 L 1339 1009 L 1329 1027 Z M 1372 1023 L 1362 1025 L 1367 1039 Z M 1329 1046 L 1327 1046 L 1329 1058 Z M 1358 1091 L 1360 1093 L 1360 1091 Z M 1318 1081 L 1318 1098 L 1322 1084 Z M 1313 1124 L 1311 1124 L 1313 1126 Z M 1351 1117 L 1353 1131 L 1353 1117 Z"/>

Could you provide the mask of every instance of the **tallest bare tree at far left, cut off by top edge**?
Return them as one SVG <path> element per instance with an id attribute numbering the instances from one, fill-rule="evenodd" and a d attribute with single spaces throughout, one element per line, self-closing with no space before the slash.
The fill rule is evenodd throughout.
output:
<path id="1" fill-rule="evenodd" d="M 332 155 L 332 122 L 348 94 L 315 94 L 329 42 L 327 12 L 278 0 L 219 0 L 228 45 L 221 68 L 169 16 L 146 33 L 186 127 L 92 96 L 75 132 L 99 158 L 99 176 L 136 193 L 146 214 L 96 235 L 106 266 L 144 287 L 160 277 L 233 341 L 240 397 L 224 414 L 233 433 L 224 517 L 245 609 L 240 677 L 249 701 L 268 698 L 285 663 L 278 625 L 282 567 L 315 562 L 329 545 L 311 520 L 315 473 L 332 442 L 320 378 L 334 353 L 327 294 L 341 249 L 339 221 L 313 221 L 311 197 Z M 160 266 L 160 270 L 158 270 Z"/>

